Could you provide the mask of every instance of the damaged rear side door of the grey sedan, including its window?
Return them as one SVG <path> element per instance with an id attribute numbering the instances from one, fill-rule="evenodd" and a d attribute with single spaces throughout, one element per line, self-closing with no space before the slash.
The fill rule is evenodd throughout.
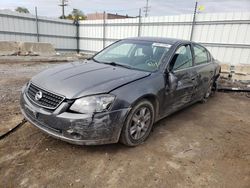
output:
<path id="1" fill-rule="evenodd" d="M 197 72 L 193 100 L 199 100 L 207 91 L 214 75 L 209 52 L 201 45 L 193 44 L 194 68 Z"/>

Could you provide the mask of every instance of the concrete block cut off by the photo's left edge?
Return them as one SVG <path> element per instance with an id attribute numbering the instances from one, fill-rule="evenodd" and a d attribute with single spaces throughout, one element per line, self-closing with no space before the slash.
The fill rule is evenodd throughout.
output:
<path id="1" fill-rule="evenodd" d="M 0 41 L 0 56 L 16 55 L 19 51 L 18 42 Z"/>

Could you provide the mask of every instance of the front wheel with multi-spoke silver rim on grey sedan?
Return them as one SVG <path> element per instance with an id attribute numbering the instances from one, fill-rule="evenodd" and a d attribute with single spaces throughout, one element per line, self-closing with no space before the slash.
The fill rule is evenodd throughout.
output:
<path id="1" fill-rule="evenodd" d="M 149 136 L 154 123 L 154 107 L 147 100 L 138 102 L 128 114 L 123 126 L 120 142 L 127 146 L 137 146 Z"/>

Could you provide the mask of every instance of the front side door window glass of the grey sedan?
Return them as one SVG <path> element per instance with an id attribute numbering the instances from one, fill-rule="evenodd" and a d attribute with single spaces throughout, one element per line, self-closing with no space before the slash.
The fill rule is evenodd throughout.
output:
<path id="1" fill-rule="evenodd" d="M 190 45 L 179 47 L 170 62 L 170 70 L 180 70 L 191 66 L 192 53 Z"/>

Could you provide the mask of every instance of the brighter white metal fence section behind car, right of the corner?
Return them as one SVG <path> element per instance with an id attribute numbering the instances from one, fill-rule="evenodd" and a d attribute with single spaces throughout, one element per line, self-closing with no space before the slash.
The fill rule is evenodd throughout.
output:
<path id="1" fill-rule="evenodd" d="M 86 20 L 80 22 L 80 49 L 86 52 L 126 37 L 190 39 L 193 15 Z M 250 64 L 250 12 L 197 14 L 192 40 L 222 63 Z"/>

